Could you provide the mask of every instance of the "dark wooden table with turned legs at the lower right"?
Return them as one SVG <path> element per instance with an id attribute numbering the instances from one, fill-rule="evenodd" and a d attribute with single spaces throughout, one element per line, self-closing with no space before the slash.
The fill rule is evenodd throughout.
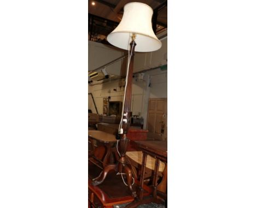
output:
<path id="1" fill-rule="evenodd" d="M 127 208 L 137 207 L 141 204 L 147 204 L 150 202 L 162 204 L 162 200 L 158 198 L 158 195 L 161 198 L 167 200 L 167 141 L 155 141 L 155 140 L 148 140 L 148 141 L 133 141 L 137 144 L 138 148 L 142 150 L 142 170 L 141 170 L 141 178 L 140 178 L 140 185 L 139 185 L 139 193 L 137 194 L 138 197 L 133 201 L 133 203 L 127 205 Z M 153 176 L 153 194 L 150 197 L 143 197 L 143 185 L 144 185 L 144 174 L 147 164 L 147 156 L 150 155 L 151 157 L 155 158 L 155 168 L 154 168 L 154 176 Z M 165 163 L 165 170 L 162 173 L 162 181 L 157 184 L 158 181 L 158 172 L 159 172 L 159 164 L 160 161 Z"/>

